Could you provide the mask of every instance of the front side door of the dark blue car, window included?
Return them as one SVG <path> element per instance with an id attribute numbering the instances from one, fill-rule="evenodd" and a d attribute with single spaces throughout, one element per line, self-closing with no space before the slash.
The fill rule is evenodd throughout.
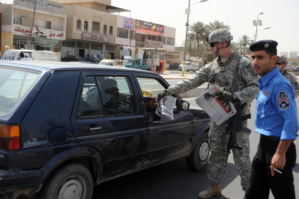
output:
<path id="1" fill-rule="evenodd" d="M 135 76 L 135 75 L 134 75 Z M 157 77 L 137 75 L 137 82 L 142 90 L 141 97 L 147 99 L 147 92 L 156 97 L 158 93 L 168 86 Z M 192 121 L 188 110 L 180 110 L 181 98 L 179 96 L 173 110 L 174 119 L 160 117 L 155 109 L 146 109 L 143 106 L 144 116 L 148 125 L 149 140 L 144 164 L 158 162 L 162 159 L 183 156 L 190 144 Z"/>

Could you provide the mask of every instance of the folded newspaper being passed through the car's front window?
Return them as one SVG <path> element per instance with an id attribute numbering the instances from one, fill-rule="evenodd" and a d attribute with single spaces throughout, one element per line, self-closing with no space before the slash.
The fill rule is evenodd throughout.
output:
<path id="1" fill-rule="evenodd" d="M 160 117 L 168 117 L 173 120 L 173 108 L 176 104 L 176 98 L 173 96 L 165 96 L 157 102 L 156 114 Z"/>

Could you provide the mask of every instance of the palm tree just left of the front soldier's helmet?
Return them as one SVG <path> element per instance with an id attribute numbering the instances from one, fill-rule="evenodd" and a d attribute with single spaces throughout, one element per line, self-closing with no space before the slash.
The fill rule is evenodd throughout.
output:
<path id="1" fill-rule="evenodd" d="M 203 22 L 196 22 L 190 26 L 190 31 L 188 38 L 191 42 L 197 43 L 196 54 L 199 54 L 199 44 L 205 40 L 206 26 Z"/>

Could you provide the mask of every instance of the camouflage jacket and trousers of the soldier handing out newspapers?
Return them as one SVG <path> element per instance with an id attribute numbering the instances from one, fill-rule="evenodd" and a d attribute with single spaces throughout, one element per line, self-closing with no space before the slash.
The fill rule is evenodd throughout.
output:
<path id="1" fill-rule="evenodd" d="M 234 51 L 225 63 L 219 62 L 220 57 L 216 58 L 209 65 L 203 67 L 197 74 L 186 80 L 178 82 L 174 86 L 169 87 L 170 94 L 178 94 L 194 89 L 204 82 L 208 82 L 211 73 L 219 73 L 228 82 L 222 85 L 215 81 L 212 84 L 217 84 L 223 90 L 234 92 L 238 100 L 233 101 L 235 107 L 237 103 L 246 103 L 247 105 L 242 110 L 242 116 L 250 113 L 249 104 L 256 98 L 259 92 L 258 76 L 254 73 L 253 65 L 248 57 L 239 55 Z M 247 126 L 247 121 L 244 121 L 243 126 Z M 209 131 L 210 142 L 210 157 L 208 160 L 208 179 L 213 184 L 221 184 L 224 180 L 226 168 L 224 166 L 226 152 L 223 151 L 227 147 L 225 142 L 227 133 L 225 130 L 225 122 L 217 126 L 211 120 Z M 241 186 L 244 191 L 247 189 L 250 171 L 251 160 L 249 157 L 249 137 L 245 133 L 236 133 L 236 145 L 243 148 L 243 150 L 232 149 L 234 162 L 241 177 Z"/>

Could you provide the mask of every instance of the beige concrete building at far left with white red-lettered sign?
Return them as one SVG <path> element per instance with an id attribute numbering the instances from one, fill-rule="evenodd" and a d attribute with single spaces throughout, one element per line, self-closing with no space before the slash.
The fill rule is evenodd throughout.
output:
<path id="1" fill-rule="evenodd" d="M 15 0 L 14 4 L 0 4 L 1 54 L 5 46 L 59 52 L 59 42 L 66 38 L 65 6 L 46 0 L 34 2 Z"/>

